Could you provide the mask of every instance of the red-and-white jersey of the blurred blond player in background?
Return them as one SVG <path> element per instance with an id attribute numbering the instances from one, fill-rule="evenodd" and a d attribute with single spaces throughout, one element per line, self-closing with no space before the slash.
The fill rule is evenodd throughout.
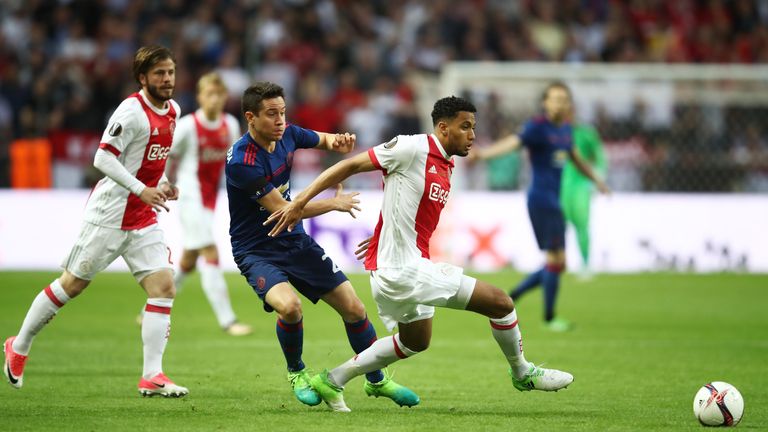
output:
<path id="1" fill-rule="evenodd" d="M 179 159 L 176 185 L 181 202 L 201 202 L 205 208 L 215 208 L 227 150 L 240 135 L 240 123 L 228 113 L 211 121 L 198 109 L 179 120 L 171 156 Z"/>

